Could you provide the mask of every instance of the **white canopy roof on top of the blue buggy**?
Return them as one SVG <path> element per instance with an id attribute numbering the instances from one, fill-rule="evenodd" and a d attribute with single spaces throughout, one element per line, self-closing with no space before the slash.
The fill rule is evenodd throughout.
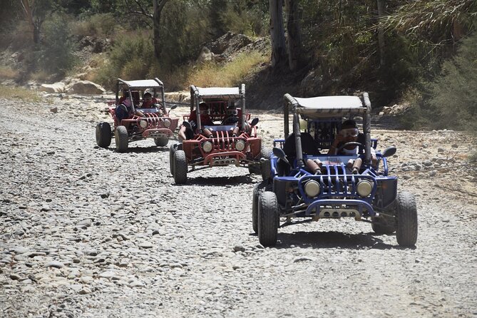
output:
<path id="1" fill-rule="evenodd" d="M 311 98 L 288 97 L 288 101 L 296 101 L 297 113 L 308 118 L 327 118 L 345 116 L 349 113 L 363 114 L 366 106 L 358 96 L 319 96 Z"/>

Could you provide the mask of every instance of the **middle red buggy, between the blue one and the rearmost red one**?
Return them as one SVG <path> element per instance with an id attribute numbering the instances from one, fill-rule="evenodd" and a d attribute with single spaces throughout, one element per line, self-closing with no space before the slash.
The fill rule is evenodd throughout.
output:
<path id="1" fill-rule="evenodd" d="M 199 103 L 206 104 L 212 124 L 201 123 Z M 230 109 L 235 110 L 236 123 L 227 123 Z M 250 114 L 245 112 L 245 84 L 232 88 L 190 86 L 190 111 L 183 123 L 190 138 L 170 146 L 170 173 L 175 183 L 185 183 L 188 172 L 197 168 L 235 165 L 251 172 L 260 170 L 262 140 L 255 127 L 258 118 L 250 122 Z"/>

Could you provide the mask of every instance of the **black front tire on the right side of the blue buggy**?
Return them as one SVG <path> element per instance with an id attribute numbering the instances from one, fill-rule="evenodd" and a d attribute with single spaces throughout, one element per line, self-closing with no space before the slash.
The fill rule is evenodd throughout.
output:
<path id="1" fill-rule="evenodd" d="M 400 246 L 414 246 L 417 240 L 417 207 L 414 195 L 398 193 L 395 202 L 396 240 Z"/>

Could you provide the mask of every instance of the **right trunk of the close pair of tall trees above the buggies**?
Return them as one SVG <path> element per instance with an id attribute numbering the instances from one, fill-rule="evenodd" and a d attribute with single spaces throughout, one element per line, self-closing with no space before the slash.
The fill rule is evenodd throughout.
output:
<path id="1" fill-rule="evenodd" d="M 302 34 L 299 28 L 298 17 L 299 0 L 286 0 L 287 9 L 287 34 L 288 34 L 288 66 L 290 71 L 295 71 L 302 58 Z"/>

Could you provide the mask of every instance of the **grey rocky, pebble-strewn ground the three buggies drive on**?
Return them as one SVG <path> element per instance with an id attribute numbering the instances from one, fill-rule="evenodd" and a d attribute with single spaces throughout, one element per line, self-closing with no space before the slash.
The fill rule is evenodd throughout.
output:
<path id="1" fill-rule="evenodd" d="M 101 98 L 0 105 L 1 317 L 477 315 L 476 140 L 463 133 L 374 130 L 416 195 L 415 248 L 351 220 L 284 227 L 264 248 L 247 170 L 174 185 L 168 148 L 96 146 Z M 270 144 L 282 118 L 259 117 Z"/>

